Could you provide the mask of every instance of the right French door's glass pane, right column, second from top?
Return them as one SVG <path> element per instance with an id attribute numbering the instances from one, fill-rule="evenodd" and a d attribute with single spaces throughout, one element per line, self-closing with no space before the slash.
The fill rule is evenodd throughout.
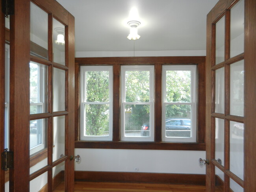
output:
<path id="1" fill-rule="evenodd" d="M 244 60 L 230 65 L 230 114 L 243 116 Z"/>

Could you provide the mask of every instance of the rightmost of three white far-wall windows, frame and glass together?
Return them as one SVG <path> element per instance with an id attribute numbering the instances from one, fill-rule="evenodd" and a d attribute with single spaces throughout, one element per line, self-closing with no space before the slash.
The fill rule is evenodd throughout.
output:
<path id="1" fill-rule="evenodd" d="M 162 140 L 165 142 L 196 142 L 196 70 L 196 65 L 163 66 Z M 170 126 L 166 124 L 168 121 Z"/>

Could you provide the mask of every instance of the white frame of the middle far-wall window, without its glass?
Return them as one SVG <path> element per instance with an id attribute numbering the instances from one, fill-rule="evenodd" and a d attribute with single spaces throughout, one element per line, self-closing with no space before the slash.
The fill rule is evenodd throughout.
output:
<path id="1" fill-rule="evenodd" d="M 126 102 L 126 71 L 149 71 L 149 102 Z M 154 66 L 125 65 L 121 66 L 121 141 L 154 141 Z M 125 105 L 150 106 L 150 137 L 125 137 Z M 141 125 L 142 126 L 142 125 Z"/>

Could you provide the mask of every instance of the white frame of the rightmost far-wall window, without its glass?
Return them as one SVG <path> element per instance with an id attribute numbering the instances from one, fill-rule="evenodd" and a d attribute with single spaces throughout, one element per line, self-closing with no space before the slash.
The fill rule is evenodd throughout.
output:
<path id="1" fill-rule="evenodd" d="M 190 102 L 166 102 L 166 72 L 191 71 Z M 163 142 L 196 142 L 197 141 L 197 66 L 196 65 L 165 65 L 162 71 L 162 141 Z M 167 105 L 190 105 L 191 137 L 166 137 L 165 113 Z"/>

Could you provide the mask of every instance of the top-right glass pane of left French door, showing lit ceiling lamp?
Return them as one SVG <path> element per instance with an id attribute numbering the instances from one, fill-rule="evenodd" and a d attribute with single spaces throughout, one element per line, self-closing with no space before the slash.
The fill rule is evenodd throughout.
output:
<path id="1" fill-rule="evenodd" d="M 53 23 L 53 61 L 65 65 L 65 26 L 55 18 Z"/>

